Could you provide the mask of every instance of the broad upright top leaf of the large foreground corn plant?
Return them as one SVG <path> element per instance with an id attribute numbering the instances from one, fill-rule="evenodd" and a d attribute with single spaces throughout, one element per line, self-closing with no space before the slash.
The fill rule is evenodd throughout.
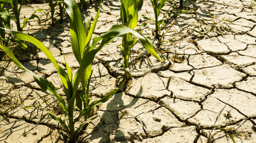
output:
<path id="1" fill-rule="evenodd" d="M 86 32 L 83 19 L 75 0 L 64 0 L 67 13 L 70 17 L 71 45 L 78 63 L 81 63 L 86 46 Z"/>

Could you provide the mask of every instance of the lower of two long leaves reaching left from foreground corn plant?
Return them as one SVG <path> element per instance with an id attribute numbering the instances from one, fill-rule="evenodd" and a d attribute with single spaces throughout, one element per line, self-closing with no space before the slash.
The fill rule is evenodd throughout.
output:
<path id="1" fill-rule="evenodd" d="M 21 68 L 22 70 L 24 70 L 25 72 L 31 74 L 35 80 L 35 82 L 47 93 L 52 94 L 54 96 L 56 96 L 57 100 L 60 102 L 60 107 L 62 109 L 62 111 L 67 112 L 67 106 L 66 103 L 64 101 L 64 99 L 56 92 L 56 89 L 53 85 L 52 82 L 38 77 L 37 75 L 35 75 L 33 72 L 31 72 L 30 70 L 28 70 L 27 68 L 25 68 L 20 61 L 17 60 L 17 58 L 15 58 L 15 56 L 13 55 L 13 53 L 11 52 L 11 50 L 9 48 L 7 48 L 4 45 L 0 44 L 0 48 L 11 58 L 11 61 L 13 61 L 19 68 Z"/>

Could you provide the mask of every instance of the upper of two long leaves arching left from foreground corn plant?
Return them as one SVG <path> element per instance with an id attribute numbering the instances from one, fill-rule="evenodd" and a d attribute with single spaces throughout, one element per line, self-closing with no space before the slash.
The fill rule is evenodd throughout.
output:
<path id="1" fill-rule="evenodd" d="M 45 55 L 47 56 L 47 58 L 52 61 L 52 63 L 54 64 L 60 79 L 64 85 L 64 87 L 66 89 L 68 89 L 68 84 L 71 84 L 70 82 L 68 82 L 68 75 L 67 72 L 65 72 L 65 70 L 57 64 L 54 56 L 51 54 L 51 52 L 45 47 L 45 45 L 43 43 L 41 43 L 40 41 L 38 41 L 36 38 L 34 38 L 33 36 L 27 35 L 25 33 L 22 32 L 18 32 L 18 31 L 12 31 L 12 30 L 8 30 L 5 29 L 6 31 L 9 31 L 11 34 L 13 34 L 16 38 L 22 40 L 22 41 L 28 41 L 33 43 L 36 47 L 38 47 L 40 50 L 42 50 Z"/>

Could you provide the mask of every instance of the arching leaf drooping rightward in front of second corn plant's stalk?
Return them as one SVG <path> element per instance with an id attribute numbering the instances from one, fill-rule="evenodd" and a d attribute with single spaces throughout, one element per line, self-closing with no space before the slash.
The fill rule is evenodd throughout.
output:
<path id="1" fill-rule="evenodd" d="M 134 31 L 133 29 L 124 26 L 124 25 L 114 25 L 111 27 L 111 29 L 106 32 L 105 34 L 101 35 L 101 38 L 109 38 L 115 39 L 115 38 L 123 38 L 126 34 L 132 33 L 144 46 L 144 48 L 152 54 L 154 57 L 156 57 L 159 61 L 162 61 L 159 56 L 157 55 L 156 51 L 153 48 L 152 41 L 149 41 L 149 38 L 145 38 L 142 34 L 140 34 L 137 31 Z"/>

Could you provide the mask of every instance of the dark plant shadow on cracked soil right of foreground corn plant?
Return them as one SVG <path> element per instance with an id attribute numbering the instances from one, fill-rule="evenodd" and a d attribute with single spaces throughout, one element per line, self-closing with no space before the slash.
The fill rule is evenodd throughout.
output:
<path id="1" fill-rule="evenodd" d="M 125 136 L 125 134 L 122 131 L 122 129 L 119 127 L 119 112 L 122 113 L 122 110 L 126 108 L 130 108 L 136 104 L 138 101 L 138 97 L 141 96 L 143 92 L 142 86 L 140 87 L 139 92 L 136 94 L 136 97 L 132 99 L 132 101 L 129 101 L 128 104 L 125 100 L 124 96 L 130 97 L 123 92 L 116 93 L 108 102 L 106 105 L 106 109 L 103 111 L 103 114 L 100 116 L 100 122 L 95 125 L 93 130 L 83 137 L 82 142 L 86 140 L 90 141 L 96 141 L 98 143 L 106 143 L 106 142 L 122 142 L 122 143 L 128 143 L 131 138 Z M 111 116 L 113 114 L 110 114 L 110 112 L 114 112 L 115 116 Z M 106 123 L 106 121 L 112 121 L 114 118 L 114 122 Z M 120 129 L 120 130 L 118 130 Z M 81 142 L 81 143 L 82 143 Z"/>

